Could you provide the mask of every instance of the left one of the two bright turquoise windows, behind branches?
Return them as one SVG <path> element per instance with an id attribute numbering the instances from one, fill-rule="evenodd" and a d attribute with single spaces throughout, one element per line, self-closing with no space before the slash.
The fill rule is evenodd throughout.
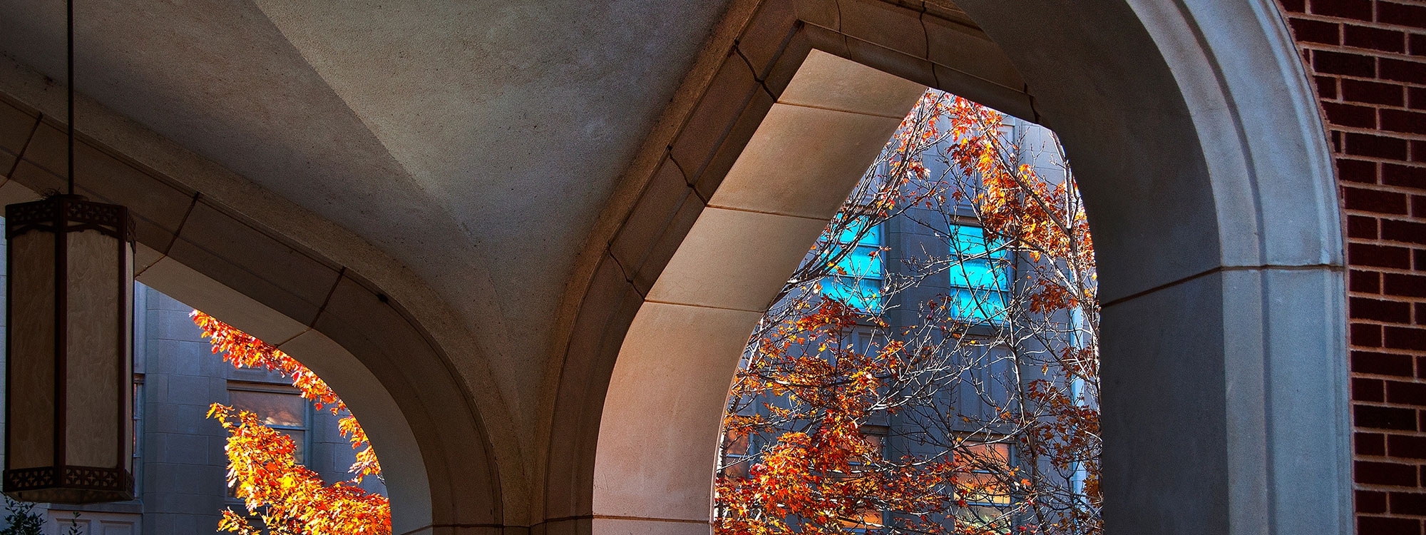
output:
<path id="1" fill-rule="evenodd" d="M 864 230 L 864 231 L 863 231 Z M 861 234 L 861 240 L 857 240 Z M 838 253 L 846 251 L 833 274 L 821 280 L 821 294 L 868 312 L 881 311 L 881 225 L 866 227 L 854 220 L 837 235 Z"/>

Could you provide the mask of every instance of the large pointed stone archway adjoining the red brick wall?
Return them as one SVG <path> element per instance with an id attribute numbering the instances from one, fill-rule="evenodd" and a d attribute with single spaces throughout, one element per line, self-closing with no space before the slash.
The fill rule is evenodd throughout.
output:
<path id="1" fill-rule="evenodd" d="M 550 529 L 707 531 L 719 392 L 760 307 L 834 210 L 784 193 L 840 201 L 850 183 L 836 177 L 874 153 L 789 165 L 809 174 L 787 183 L 739 178 L 766 151 L 797 147 L 779 131 L 799 106 L 789 80 L 816 76 L 800 68 L 827 53 L 1060 133 L 1104 275 L 1112 532 L 1352 531 L 1340 221 L 1320 117 L 1276 6 L 958 6 L 732 11 L 687 81 L 696 97 L 670 107 L 680 127 L 650 140 L 647 181 L 599 251 L 565 377 L 610 379 L 560 385 L 555 434 L 572 445 L 552 444 Z M 857 80 L 878 76 L 890 83 Z M 831 108 L 877 116 L 854 101 Z M 823 141 L 890 133 L 841 126 Z"/>

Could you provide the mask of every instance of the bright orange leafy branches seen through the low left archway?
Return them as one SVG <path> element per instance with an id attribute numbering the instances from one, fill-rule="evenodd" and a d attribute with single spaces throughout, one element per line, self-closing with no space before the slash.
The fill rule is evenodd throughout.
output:
<path id="1" fill-rule="evenodd" d="M 297 462 L 297 445 L 291 438 L 262 425 L 252 412 L 212 404 L 208 417 L 218 419 L 228 432 L 224 448 L 228 485 L 242 499 L 248 516 L 261 522 L 254 526 L 248 516 L 224 509 L 218 528 L 241 535 L 258 535 L 264 529 L 272 535 L 391 534 L 386 496 L 356 486 L 364 477 L 379 478 L 381 464 L 347 404 L 317 374 L 278 348 L 197 310 L 191 318 L 212 344 L 212 352 L 221 352 L 224 361 L 237 368 L 281 372 L 318 409 L 342 415 L 338 427 L 356 449 L 356 462 L 349 468 L 352 478 L 327 485 L 317 472 Z"/>

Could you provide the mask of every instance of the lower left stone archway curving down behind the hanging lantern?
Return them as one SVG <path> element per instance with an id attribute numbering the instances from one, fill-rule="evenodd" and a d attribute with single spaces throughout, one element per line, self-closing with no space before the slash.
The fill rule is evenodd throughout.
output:
<path id="1" fill-rule="evenodd" d="M 0 96 L 0 204 L 63 185 L 61 127 Z M 143 133 L 120 131 L 130 138 Z M 375 282 L 98 141 L 77 193 L 135 220 L 135 278 L 278 345 L 342 395 L 381 458 L 399 535 L 503 524 L 491 441 L 439 345 Z"/>

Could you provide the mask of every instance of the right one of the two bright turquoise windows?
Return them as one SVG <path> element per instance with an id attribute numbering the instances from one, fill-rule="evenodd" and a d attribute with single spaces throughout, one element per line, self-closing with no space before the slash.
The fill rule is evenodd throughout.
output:
<path id="1" fill-rule="evenodd" d="M 985 230 L 951 225 L 951 307 L 964 321 L 1005 321 L 1010 300 L 1010 254 L 985 238 Z"/>

